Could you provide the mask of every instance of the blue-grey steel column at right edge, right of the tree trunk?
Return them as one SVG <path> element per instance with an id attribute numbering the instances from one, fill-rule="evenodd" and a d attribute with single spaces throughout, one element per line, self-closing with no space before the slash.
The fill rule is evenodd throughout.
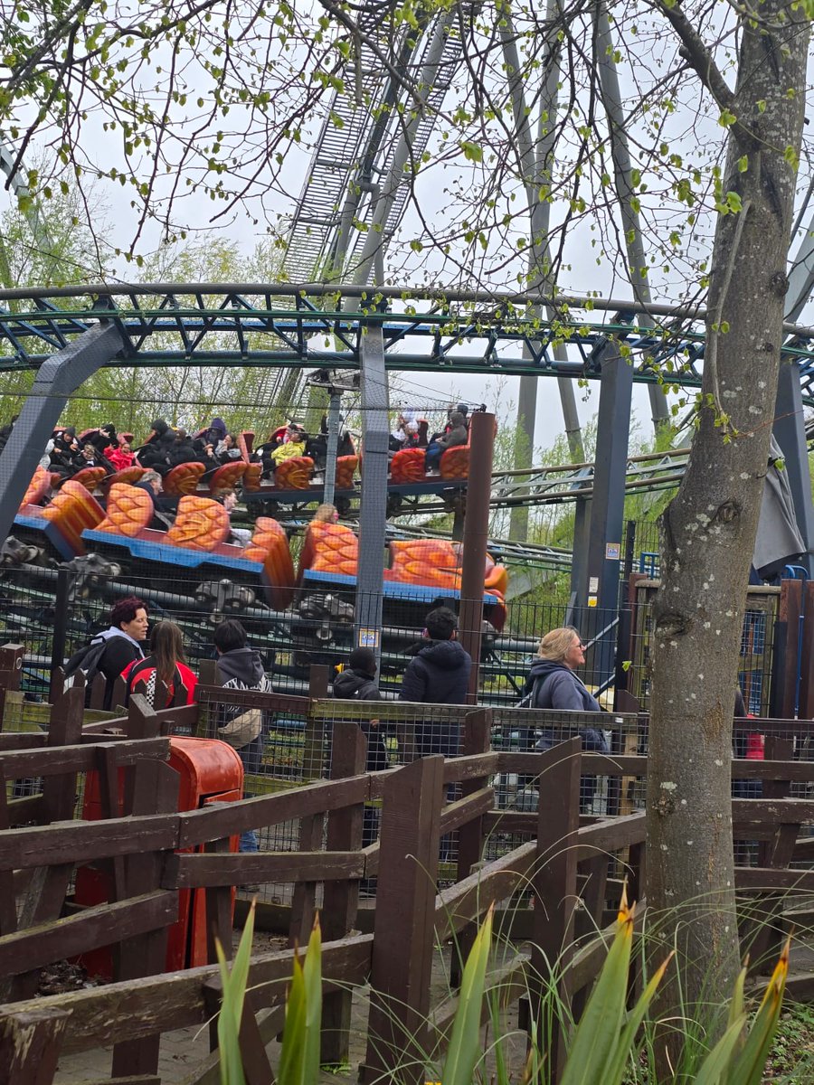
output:
<path id="1" fill-rule="evenodd" d="M 814 576 L 814 503 L 800 373 L 793 362 L 780 362 L 773 432 L 783 449 L 797 526 L 805 544 L 805 553 L 797 564 L 802 565 L 811 578 Z"/>

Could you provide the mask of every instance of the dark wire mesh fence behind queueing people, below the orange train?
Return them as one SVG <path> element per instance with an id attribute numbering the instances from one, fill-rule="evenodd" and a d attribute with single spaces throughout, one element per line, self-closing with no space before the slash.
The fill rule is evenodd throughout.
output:
<path id="1" fill-rule="evenodd" d="M 66 661 L 109 626 L 112 603 L 128 595 L 142 599 L 151 622 L 176 622 L 182 631 L 187 660 L 193 669 L 214 659 L 213 634 L 224 617 L 238 617 L 250 643 L 263 658 L 275 688 L 291 693 L 307 688 L 308 668 L 331 668 L 347 661 L 353 647 L 354 613 L 359 600 L 352 585 L 331 590 L 306 586 L 293 593 L 284 611 L 274 610 L 247 585 L 206 573 L 177 569 L 160 575 L 116 576 L 75 574 L 46 566 L 4 567 L 0 571 L 0 637 L 26 650 L 23 688 L 30 694 L 48 692 L 52 663 Z M 521 695 L 539 638 L 549 629 L 574 625 L 590 647 L 583 677 L 601 692 L 612 682 L 616 652 L 616 614 L 596 609 L 523 600 L 496 607 L 484 601 L 484 621 L 478 630 L 461 627 L 458 639 L 469 643 L 480 635 L 480 699 L 511 704 Z M 460 600 L 391 585 L 383 601 L 381 625 L 381 687 L 396 695 L 411 653 L 421 647 L 428 613 L 448 605 L 456 614 Z"/>

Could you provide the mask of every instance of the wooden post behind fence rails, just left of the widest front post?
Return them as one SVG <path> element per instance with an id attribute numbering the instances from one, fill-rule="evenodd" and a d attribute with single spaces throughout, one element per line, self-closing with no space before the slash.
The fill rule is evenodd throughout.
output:
<path id="1" fill-rule="evenodd" d="M 361 728 L 345 719 L 333 724 L 331 779 L 342 780 L 365 771 L 367 740 Z M 345 806 L 328 815 L 328 851 L 357 852 L 361 847 L 364 805 Z M 321 916 L 322 939 L 334 942 L 353 930 L 359 903 L 358 882 L 325 882 Z M 320 1062 L 347 1062 L 351 1047 L 351 991 L 333 991 L 322 998 L 322 1046 Z"/>

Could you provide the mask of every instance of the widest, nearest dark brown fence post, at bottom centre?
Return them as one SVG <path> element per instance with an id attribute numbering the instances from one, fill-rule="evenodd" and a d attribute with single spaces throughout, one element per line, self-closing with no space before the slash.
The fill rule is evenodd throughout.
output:
<path id="1" fill-rule="evenodd" d="M 385 786 L 363 1085 L 423 1085 L 443 799 L 438 755 Z"/>

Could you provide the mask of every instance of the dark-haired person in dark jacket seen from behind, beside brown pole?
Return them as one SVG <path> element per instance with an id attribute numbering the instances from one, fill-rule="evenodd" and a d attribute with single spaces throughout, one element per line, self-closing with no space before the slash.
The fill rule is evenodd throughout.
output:
<path id="1" fill-rule="evenodd" d="M 436 607 L 427 615 L 423 638 L 408 649 L 412 660 L 402 679 L 399 701 L 423 704 L 466 704 L 472 660 L 458 641 L 458 618 L 448 607 Z M 460 748 L 458 724 L 416 725 L 416 745 L 421 757 L 443 753 L 454 757 Z"/>

